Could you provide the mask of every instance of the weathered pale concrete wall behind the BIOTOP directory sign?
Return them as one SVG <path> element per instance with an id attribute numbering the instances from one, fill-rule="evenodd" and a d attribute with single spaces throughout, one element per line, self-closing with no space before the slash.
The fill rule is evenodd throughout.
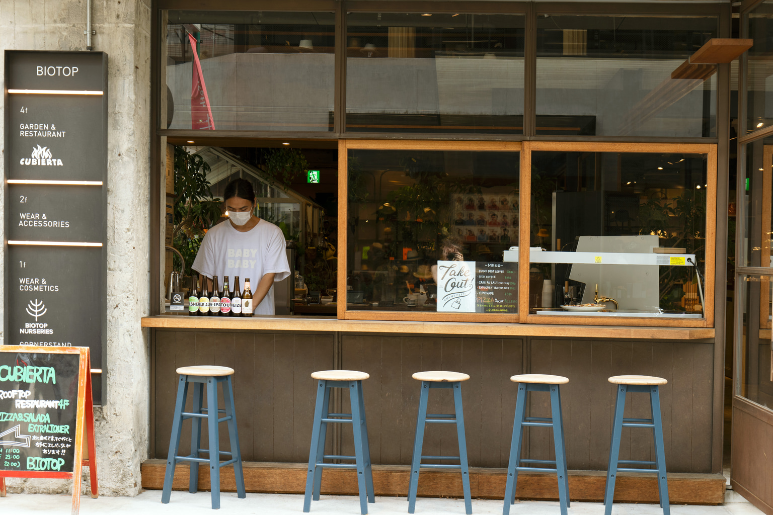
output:
<path id="1" fill-rule="evenodd" d="M 149 306 L 150 4 L 94 2 L 92 14 L 94 50 L 109 56 L 107 402 L 95 413 L 103 495 L 136 495 L 140 463 L 148 452 L 148 335 L 140 318 Z M 86 46 L 85 0 L 2 0 L 0 23 L 0 49 Z M 0 53 L 0 73 L 3 59 Z M 0 127 L 2 120 L 0 106 Z M 5 198 L 0 202 L 5 206 Z M 0 213 L 4 216 L 5 209 Z M 88 474 L 83 477 L 87 483 Z M 66 492 L 70 485 L 60 480 L 9 480 L 12 492 Z"/>

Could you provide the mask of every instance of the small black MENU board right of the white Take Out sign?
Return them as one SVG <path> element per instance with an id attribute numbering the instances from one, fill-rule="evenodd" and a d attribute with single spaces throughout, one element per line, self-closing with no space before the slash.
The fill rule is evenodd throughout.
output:
<path id="1" fill-rule="evenodd" d="M 475 313 L 518 313 L 518 263 L 475 262 Z"/>

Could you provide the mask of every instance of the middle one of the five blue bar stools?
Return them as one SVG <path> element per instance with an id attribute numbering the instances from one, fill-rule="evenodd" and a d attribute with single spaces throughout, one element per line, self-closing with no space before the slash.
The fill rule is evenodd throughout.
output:
<path id="1" fill-rule="evenodd" d="M 467 466 L 467 439 L 465 438 L 465 410 L 461 406 L 461 381 L 467 381 L 470 376 L 461 372 L 426 371 L 417 372 L 413 376 L 421 381 L 421 396 L 419 397 L 419 414 L 416 420 L 416 435 L 414 437 L 414 457 L 410 462 L 410 482 L 408 483 L 408 513 L 416 509 L 416 494 L 419 489 L 419 469 L 461 469 L 461 488 L 465 493 L 465 510 L 472 513 L 470 495 L 470 474 Z M 454 391 L 454 413 L 452 415 L 427 414 L 427 398 L 432 388 L 451 388 Z M 427 418 L 429 417 L 429 418 Z M 459 456 L 421 456 L 421 446 L 424 443 L 424 426 L 427 424 L 456 424 L 456 436 L 459 442 Z M 421 464 L 421 459 L 458 459 L 459 465 Z"/>

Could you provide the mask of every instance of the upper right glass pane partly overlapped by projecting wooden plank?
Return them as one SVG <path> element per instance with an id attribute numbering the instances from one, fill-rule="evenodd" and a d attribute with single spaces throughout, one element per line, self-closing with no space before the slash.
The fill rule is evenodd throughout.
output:
<path id="1" fill-rule="evenodd" d="M 713 137 L 716 74 L 672 72 L 716 17 L 537 17 L 536 134 Z"/>

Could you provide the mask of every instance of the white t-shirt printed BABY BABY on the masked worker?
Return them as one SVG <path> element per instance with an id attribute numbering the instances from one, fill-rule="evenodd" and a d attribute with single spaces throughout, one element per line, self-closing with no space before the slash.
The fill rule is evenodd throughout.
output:
<path id="1" fill-rule="evenodd" d="M 244 280 L 250 279 L 253 294 L 261 277 L 275 273 L 274 282 L 290 275 L 287 252 L 284 250 L 284 235 L 281 229 L 271 222 L 261 219 L 252 229 L 240 232 L 233 229 L 229 220 L 215 225 L 206 232 L 199 253 L 193 261 L 192 269 L 210 279 L 228 277 L 233 288 L 233 276 L 239 276 L 240 287 Z M 263 302 L 254 307 L 256 315 L 274 314 L 274 286 L 268 290 Z"/>

